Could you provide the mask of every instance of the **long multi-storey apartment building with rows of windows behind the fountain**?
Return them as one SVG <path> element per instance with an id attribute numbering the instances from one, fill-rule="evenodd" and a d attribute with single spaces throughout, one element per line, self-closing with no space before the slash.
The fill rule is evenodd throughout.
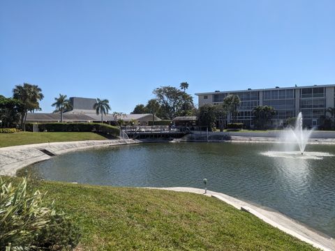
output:
<path id="1" fill-rule="evenodd" d="M 228 94 L 239 96 L 241 104 L 238 107 L 237 121 L 247 127 L 253 127 L 252 110 L 258 105 L 274 107 L 276 110 L 272 121 L 274 126 L 283 125 L 286 119 L 295 117 L 301 112 L 304 126 L 314 127 L 320 124 L 320 116 L 326 114 L 326 109 L 334 107 L 335 84 L 195 93 L 198 96 L 199 107 L 204 104 L 222 104 Z M 226 122 L 230 122 L 229 117 Z"/>

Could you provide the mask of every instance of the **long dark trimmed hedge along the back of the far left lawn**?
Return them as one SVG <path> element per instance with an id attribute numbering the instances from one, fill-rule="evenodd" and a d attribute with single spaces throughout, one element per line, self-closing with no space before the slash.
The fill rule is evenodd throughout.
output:
<path id="1" fill-rule="evenodd" d="M 26 130 L 33 131 L 33 124 L 26 123 Z M 101 132 L 114 137 L 119 136 L 116 126 L 101 123 L 38 123 L 40 132 Z"/>

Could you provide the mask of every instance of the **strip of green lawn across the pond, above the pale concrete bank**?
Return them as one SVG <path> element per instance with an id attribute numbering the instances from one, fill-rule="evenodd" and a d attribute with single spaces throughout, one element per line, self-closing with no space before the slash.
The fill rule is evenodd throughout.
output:
<path id="1" fill-rule="evenodd" d="M 17 132 L 0 133 L 0 147 L 67 142 L 77 140 L 106 139 L 94 132 Z"/>

